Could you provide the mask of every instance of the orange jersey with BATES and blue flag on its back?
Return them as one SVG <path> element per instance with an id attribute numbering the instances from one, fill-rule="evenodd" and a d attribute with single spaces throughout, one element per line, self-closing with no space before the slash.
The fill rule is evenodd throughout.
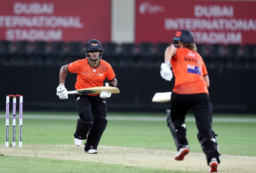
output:
<path id="1" fill-rule="evenodd" d="M 202 57 L 188 48 L 177 48 L 171 59 L 175 84 L 172 89 L 177 94 L 207 93 L 207 84 L 204 81 L 207 70 Z"/>

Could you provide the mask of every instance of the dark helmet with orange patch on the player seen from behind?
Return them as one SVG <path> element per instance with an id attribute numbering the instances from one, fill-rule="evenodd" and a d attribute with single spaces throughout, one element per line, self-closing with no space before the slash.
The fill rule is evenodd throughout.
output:
<path id="1" fill-rule="evenodd" d="M 195 38 L 192 32 L 182 29 L 175 33 L 172 41 L 174 46 L 179 46 L 180 41 L 185 43 L 195 43 Z"/>

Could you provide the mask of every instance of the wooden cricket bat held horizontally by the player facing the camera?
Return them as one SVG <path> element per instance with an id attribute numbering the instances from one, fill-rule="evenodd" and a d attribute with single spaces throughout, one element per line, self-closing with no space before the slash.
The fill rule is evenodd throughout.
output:
<path id="1" fill-rule="evenodd" d="M 92 87 L 92 88 L 84 88 L 84 89 L 79 89 L 79 90 L 74 90 L 74 91 L 68 91 L 68 94 L 100 94 L 102 91 L 107 91 L 108 93 L 115 93 L 118 94 L 120 93 L 119 89 L 116 87 Z"/>

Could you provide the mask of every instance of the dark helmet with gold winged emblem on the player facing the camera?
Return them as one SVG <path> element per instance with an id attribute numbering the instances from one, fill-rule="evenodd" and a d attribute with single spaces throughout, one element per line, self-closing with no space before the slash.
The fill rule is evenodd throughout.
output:
<path id="1" fill-rule="evenodd" d="M 102 58 L 103 47 L 101 47 L 101 43 L 100 43 L 99 40 L 95 40 L 95 39 L 89 40 L 87 42 L 86 47 L 84 48 L 84 50 L 85 50 L 85 56 L 86 56 L 86 58 L 89 59 L 89 61 L 91 60 L 92 62 L 95 62 L 94 61 L 95 58 L 89 56 L 89 51 L 100 51 L 99 57 L 97 57 L 97 61 L 100 61 L 98 59 Z"/>

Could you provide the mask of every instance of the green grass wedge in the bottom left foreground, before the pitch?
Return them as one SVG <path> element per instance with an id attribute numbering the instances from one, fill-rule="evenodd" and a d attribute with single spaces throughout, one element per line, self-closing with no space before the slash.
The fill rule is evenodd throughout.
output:
<path id="1" fill-rule="evenodd" d="M 56 173 L 56 172 L 89 172 L 89 173 L 188 173 L 166 169 L 124 166 L 100 162 L 82 162 L 73 160 L 45 159 L 35 157 L 16 157 L 0 155 L 0 171 L 8 173 Z M 194 172 L 196 173 L 196 172 Z"/>

